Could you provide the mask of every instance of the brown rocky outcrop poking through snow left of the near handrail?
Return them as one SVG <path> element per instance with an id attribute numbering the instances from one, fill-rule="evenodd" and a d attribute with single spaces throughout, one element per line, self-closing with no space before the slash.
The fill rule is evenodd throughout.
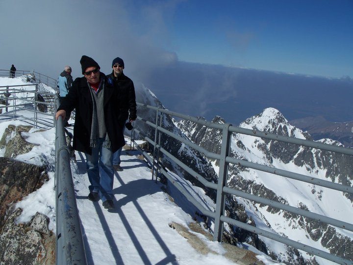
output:
<path id="1" fill-rule="evenodd" d="M 55 235 L 48 229 L 49 218 L 37 212 L 30 222 L 18 223 L 22 209 L 17 202 L 49 180 L 46 166 L 14 159 L 33 148 L 22 132 L 29 126 L 10 125 L 0 140 L 5 149 L 0 157 L 0 264 L 55 264 Z"/>

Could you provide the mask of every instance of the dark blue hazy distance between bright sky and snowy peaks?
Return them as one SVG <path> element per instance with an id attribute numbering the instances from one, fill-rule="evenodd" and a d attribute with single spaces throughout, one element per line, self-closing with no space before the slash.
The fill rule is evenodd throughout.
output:
<path id="1" fill-rule="evenodd" d="M 267 107 L 278 109 L 314 140 L 353 146 L 353 79 L 176 61 L 153 70 L 144 85 L 168 109 L 238 126 Z"/>

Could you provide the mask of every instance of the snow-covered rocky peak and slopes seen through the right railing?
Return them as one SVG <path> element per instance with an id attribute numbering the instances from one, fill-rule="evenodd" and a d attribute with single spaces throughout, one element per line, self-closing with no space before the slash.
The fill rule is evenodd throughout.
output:
<path id="1" fill-rule="evenodd" d="M 216 117 L 213 121 L 225 122 L 220 117 Z M 198 125 L 185 121 L 179 122 L 179 126 L 186 131 L 185 134 L 189 135 L 193 141 L 205 148 L 208 147 L 206 149 L 209 151 L 217 152 L 219 150 L 221 145 L 219 141 L 220 132 L 204 128 L 196 129 Z M 274 108 L 267 108 L 259 115 L 247 119 L 240 124 L 240 127 L 311 139 L 307 133 L 291 126 L 283 115 Z M 202 139 L 196 137 L 200 134 L 203 134 Z M 322 139 L 321 141 L 339 145 L 338 142 L 329 139 Z M 313 150 L 241 134 L 232 136 L 231 155 L 238 159 L 352 185 L 353 161 L 349 156 L 335 155 L 327 151 Z M 217 170 L 217 163 L 213 162 L 212 164 Z M 228 174 L 228 185 L 230 187 L 352 223 L 352 197 L 348 194 L 237 165 L 230 165 Z M 278 211 L 272 207 L 247 203 L 243 199 L 237 198 L 236 200 L 244 205 L 248 214 L 248 217 L 244 217 L 243 221 L 254 222 L 258 227 L 267 226 L 273 232 L 288 236 L 291 239 L 336 253 L 348 259 L 353 258 L 351 252 L 353 235 L 349 231 L 334 228 L 309 218 L 299 217 L 295 214 Z M 236 204 L 236 202 L 234 203 Z M 237 217 L 232 212 L 229 214 Z M 276 256 L 277 260 L 286 263 L 290 262 L 287 256 L 290 255 L 288 250 L 280 250 L 280 248 L 274 247 L 272 240 L 262 237 L 261 239 L 266 242 L 269 253 L 273 252 L 273 257 Z M 245 238 L 245 240 L 249 239 Z M 343 244 L 348 247 L 340 247 Z M 288 253 L 285 253 L 287 251 Z M 315 261 L 309 261 L 312 257 L 308 254 L 303 251 L 300 251 L 300 253 L 308 264 L 315 263 Z M 294 261 L 291 261 L 291 263 L 300 263 L 300 257 L 297 257 L 297 259 L 297 261 L 292 259 Z M 315 259 L 320 264 L 327 264 L 328 262 L 318 257 Z"/>

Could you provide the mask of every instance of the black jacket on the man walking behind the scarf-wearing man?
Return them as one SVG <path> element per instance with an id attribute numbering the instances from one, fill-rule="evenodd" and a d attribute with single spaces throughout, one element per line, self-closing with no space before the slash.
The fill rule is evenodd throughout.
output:
<path id="1" fill-rule="evenodd" d="M 136 120 L 136 96 L 132 80 L 126 77 L 124 73 L 116 78 L 113 72 L 110 75 L 107 75 L 107 78 L 112 80 L 114 87 L 119 90 L 120 97 L 118 105 L 121 111 L 119 120 L 122 121 L 123 124 L 127 118 L 130 120 Z"/>

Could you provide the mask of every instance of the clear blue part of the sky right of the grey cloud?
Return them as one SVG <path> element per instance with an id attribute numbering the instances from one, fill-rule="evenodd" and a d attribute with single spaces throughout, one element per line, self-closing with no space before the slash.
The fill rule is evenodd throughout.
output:
<path id="1" fill-rule="evenodd" d="M 172 15 L 179 60 L 353 77 L 353 0 L 182 1 Z"/>

